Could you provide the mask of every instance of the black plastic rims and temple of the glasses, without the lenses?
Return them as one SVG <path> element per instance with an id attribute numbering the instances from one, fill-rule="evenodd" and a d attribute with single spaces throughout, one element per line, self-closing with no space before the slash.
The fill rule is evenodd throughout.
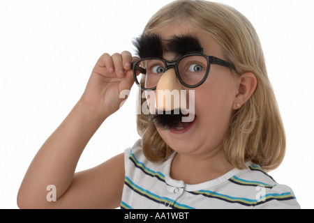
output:
<path id="1" fill-rule="evenodd" d="M 179 62 L 182 59 L 184 59 L 184 58 L 186 58 L 188 56 L 204 56 L 204 58 L 207 59 L 207 70 L 206 70 L 206 73 L 205 73 L 203 79 L 200 82 L 198 82 L 197 84 L 193 84 L 193 85 L 184 83 L 184 81 L 181 79 L 181 77 L 179 75 Z M 209 75 L 209 70 L 211 68 L 211 64 L 216 64 L 216 65 L 219 65 L 219 66 L 223 66 L 225 68 L 230 68 L 232 70 L 235 69 L 234 65 L 232 63 L 230 63 L 230 62 L 224 61 L 223 59 L 219 59 L 216 56 L 207 56 L 207 55 L 202 54 L 202 53 L 185 54 L 184 56 L 181 56 L 176 61 L 166 61 L 166 60 L 158 58 L 158 57 L 147 57 L 147 58 L 143 58 L 143 59 L 140 59 L 140 60 L 135 61 L 135 62 L 132 63 L 133 77 L 134 77 L 135 83 L 137 84 L 138 87 L 140 87 L 140 89 L 142 89 L 142 91 L 155 91 L 157 86 L 154 86 L 154 88 L 151 88 L 151 89 L 144 88 L 140 84 L 140 82 L 138 82 L 137 75 L 136 75 L 136 71 L 137 70 L 142 70 L 144 68 L 140 68 L 139 66 L 136 67 L 135 64 L 140 63 L 141 61 L 146 61 L 146 60 L 151 60 L 151 59 L 156 59 L 156 60 L 162 61 L 165 64 L 165 71 L 167 71 L 170 68 L 174 68 L 174 70 L 176 71 L 176 75 L 177 75 L 177 77 L 179 79 L 179 82 L 183 86 L 186 86 L 189 89 L 195 89 L 198 86 L 201 86 L 202 84 L 204 84 L 204 82 L 206 81 L 206 79 L 207 79 L 207 77 Z"/>

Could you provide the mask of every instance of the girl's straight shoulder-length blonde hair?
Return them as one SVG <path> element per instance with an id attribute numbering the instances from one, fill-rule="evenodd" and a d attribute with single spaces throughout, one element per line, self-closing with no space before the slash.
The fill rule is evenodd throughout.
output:
<path id="1" fill-rule="evenodd" d="M 223 137 L 222 148 L 227 160 L 238 169 L 245 169 L 248 160 L 266 171 L 276 169 L 285 155 L 285 131 L 253 25 L 230 6 L 210 1 L 179 0 L 169 3 L 151 17 L 143 33 L 182 23 L 214 38 L 238 74 L 252 72 L 257 78 L 255 92 L 245 105 L 234 110 Z M 158 134 L 149 114 L 137 116 L 137 131 L 142 137 L 143 153 L 151 162 L 165 160 L 173 153 Z"/>

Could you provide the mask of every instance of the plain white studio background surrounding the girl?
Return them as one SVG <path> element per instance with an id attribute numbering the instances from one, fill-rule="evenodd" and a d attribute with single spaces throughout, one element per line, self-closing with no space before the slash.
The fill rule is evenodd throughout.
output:
<path id="1" fill-rule="evenodd" d="M 16 195 L 33 156 L 63 121 L 103 52 L 129 50 L 151 15 L 170 1 L 0 0 L 0 208 Z M 260 36 L 269 78 L 287 134 L 281 167 L 302 208 L 314 208 L 314 6 L 310 0 L 221 0 L 246 15 Z M 132 146 L 130 98 L 87 145 L 77 170 L 94 167 Z"/>

